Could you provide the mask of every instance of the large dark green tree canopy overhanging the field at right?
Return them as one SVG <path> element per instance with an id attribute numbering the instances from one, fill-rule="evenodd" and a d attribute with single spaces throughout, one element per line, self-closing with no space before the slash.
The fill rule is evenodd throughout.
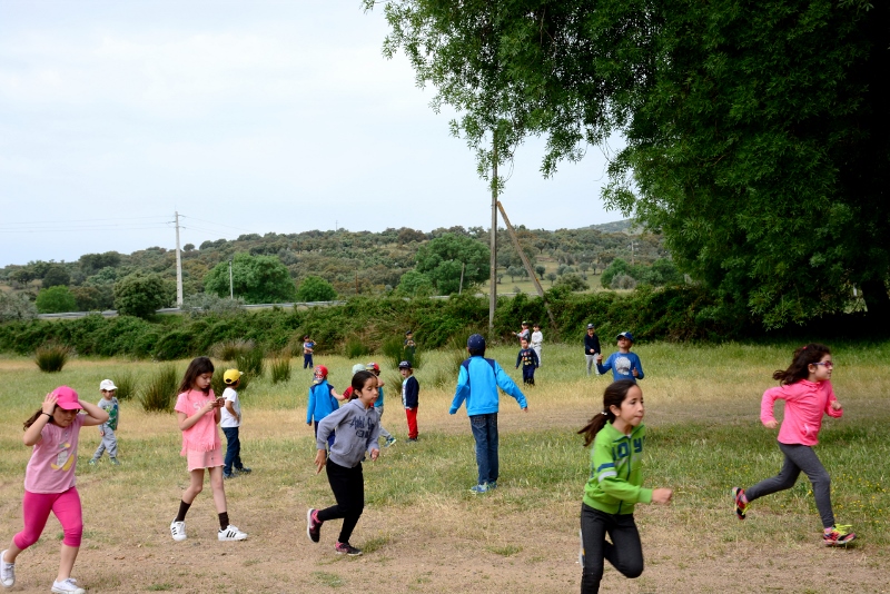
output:
<path id="1" fill-rule="evenodd" d="M 849 309 L 861 289 L 869 317 L 890 320 L 890 3 L 390 0 L 385 11 L 385 52 L 404 49 L 464 122 L 491 110 L 454 99 L 484 95 L 477 81 L 496 65 L 498 121 L 547 137 L 545 175 L 622 133 L 606 202 L 664 232 L 725 308 L 777 327 Z M 461 131 L 473 145 L 477 130 Z"/>

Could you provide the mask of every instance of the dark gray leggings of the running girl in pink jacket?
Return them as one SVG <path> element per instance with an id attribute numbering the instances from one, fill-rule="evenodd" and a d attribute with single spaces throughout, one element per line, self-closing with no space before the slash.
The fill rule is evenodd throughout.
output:
<path id="1" fill-rule="evenodd" d="M 779 449 L 785 455 L 785 462 L 778 475 L 772 478 L 761 481 L 756 485 L 749 487 L 744 496 L 749 502 L 753 502 L 764 495 L 784 491 L 794 486 L 798 482 L 800 472 L 813 484 L 813 497 L 819 516 L 822 518 L 822 526 L 831 528 L 834 526 L 834 514 L 831 511 L 831 477 L 822 466 L 819 457 L 810 446 L 800 444 L 779 443 Z"/>

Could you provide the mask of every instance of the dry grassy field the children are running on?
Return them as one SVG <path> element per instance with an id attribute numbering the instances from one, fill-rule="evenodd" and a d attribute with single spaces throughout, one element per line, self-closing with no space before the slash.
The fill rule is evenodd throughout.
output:
<path id="1" fill-rule="evenodd" d="M 760 396 L 771 373 L 788 364 L 792 345 L 690 346 L 653 344 L 637 350 L 650 428 L 646 484 L 675 489 L 673 505 L 641 506 L 646 570 L 635 581 L 607 567 L 604 591 L 782 592 L 890 591 L 890 343 L 834 348 L 833 384 L 844 406 L 825 419 L 817 453 L 832 475 L 838 521 L 859 541 L 849 550 L 821 548 L 820 524 L 802 477 L 791 491 L 755 502 L 744 523 L 734 517 L 733 485 L 775 474 L 775 433 L 759 420 Z M 172 415 L 146 414 L 122 403 L 120 467 L 86 464 L 99 436 L 83 429 L 78 488 L 85 539 L 75 576 L 93 592 L 573 592 L 577 591 L 578 508 L 587 453 L 575 430 L 602 403 L 609 379 L 586 377 L 576 346 L 545 345 L 538 386 L 526 390 L 530 413 L 503 397 L 498 489 L 474 496 L 473 439 L 465 410 L 447 414 L 454 355 L 425 353 L 421 382 L 421 440 L 404 442 L 406 425 L 397 375 L 387 382 L 383 422 L 399 442 L 365 464 L 366 508 L 353 537 L 365 556 L 334 554 L 338 523 L 322 543 L 305 536 L 309 506 L 333 503 L 312 465 L 314 440 L 305 424 L 309 372 L 285 384 L 254 380 L 241 394 L 243 457 L 249 476 L 226 483 L 234 524 L 244 543 L 218 543 L 209 485 L 188 516 L 189 538 L 170 539 L 168 525 L 188 476 L 179 457 Z M 510 370 L 515 349 L 490 352 Z M 380 359 L 378 359 L 380 360 Z M 356 362 L 319 358 L 330 382 L 346 387 Z M 380 360 L 380 363 L 383 363 Z M 179 362 L 180 373 L 187 362 Z M 145 384 L 148 362 L 76 359 L 59 374 L 42 374 L 27 358 L 0 358 L 0 541 L 21 527 L 21 482 L 29 449 L 21 423 L 42 395 L 67 384 L 92 400 L 98 385 L 131 372 Z M 46 591 L 58 565 L 61 528 L 50 519 L 43 538 L 19 557 L 16 591 Z M 6 545 L 3 545 L 6 546 Z"/>

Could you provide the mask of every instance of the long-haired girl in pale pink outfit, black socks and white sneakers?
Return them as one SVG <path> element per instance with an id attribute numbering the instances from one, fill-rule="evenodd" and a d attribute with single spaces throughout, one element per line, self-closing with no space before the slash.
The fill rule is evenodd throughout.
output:
<path id="1" fill-rule="evenodd" d="M 214 364 L 207 357 L 192 359 L 179 385 L 179 397 L 176 399 L 176 417 L 179 430 L 182 432 L 182 449 L 180 456 L 188 459 L 189 486 L 182 492 L 179 513 L 170 523 L 170 536 L 174 541 L 186 539 L 186 514 L 198 493 L 204 488 L 204 471 L 210 475 L 210 488 L 214 491 L 214 503 L 219 515 L 219 541 L 244 541 L 247 534 L 229 524 L 226 507 L 226 491 L 222 486 L 222 443 L 216 426 L 220 419 L 219 409 L 224 406 L 222 397 L 216 397 L 210 388 L 214 378 Z"/>

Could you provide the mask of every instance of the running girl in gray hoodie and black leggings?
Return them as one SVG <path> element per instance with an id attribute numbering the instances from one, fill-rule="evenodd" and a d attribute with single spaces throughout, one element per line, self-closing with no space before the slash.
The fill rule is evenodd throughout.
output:
<path id="1" fill-rule="evenodd" d="M 362 554 L 360 550 L 349 544 L 353 531 L 365 508 L 362 461 L 365 458 L 365 453 L 372 461 L 376 461 L 379 456 L 377 438 L 380 423 L 374 408 L 374 400 L 377 399 L 377 377 L 370 372 L 358 372 L 353 376 L 352 388 L 356 398 L 322 420 L 315 444 L 317 448 L 315 466 L 318 473 L 323 467 L 326 468 L 327 481 L 337 504 L 325 509 L 309 508 L 306 513 L 306 533 L 312 542 L 317 543 L 322 538 L 322 524 L 342 517 L 343 526 L 334 551 L 337 554 L 354 556 Z M 325 443 L 328 435 L 335 432 L 337 438 L 330 447 L 329 456 L 326 456 Z"/>

